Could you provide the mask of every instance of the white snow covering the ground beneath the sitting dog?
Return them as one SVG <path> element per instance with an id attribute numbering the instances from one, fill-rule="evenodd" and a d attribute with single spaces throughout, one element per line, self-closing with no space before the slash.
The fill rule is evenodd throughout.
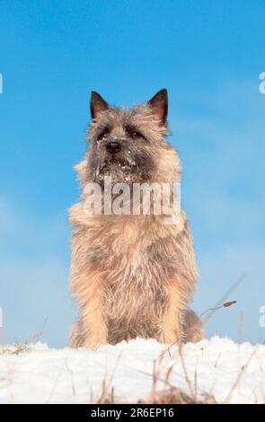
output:
<path id="1" fill-rule="evenodd" d="M 183 346 L 181 354 L 179 347 L 169 353 L 155 340 L 141 338 L 96 351 L 53 349 L 39 342 L 16 355 L 0 347 L 0 403 L 97 402 L 104 380 L 115 402 L 147 401 L 155 361 L 156 391 L 163 390 L 172 367 L 171 385 L 187 394 L 191 387 L 198 397 L 213 394 L 217 402 L 265 402 L 265 346 L 213 337 Z"/>

